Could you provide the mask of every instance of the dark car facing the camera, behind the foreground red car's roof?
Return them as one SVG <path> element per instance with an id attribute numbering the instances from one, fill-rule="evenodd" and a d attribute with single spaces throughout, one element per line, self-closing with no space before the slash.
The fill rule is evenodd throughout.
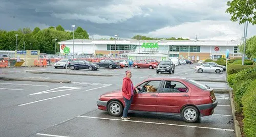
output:
<path id="1" fill-rule="evenodd" d="M 160 61 L 159 65 L 157 66 L 157 73 L 159 72 L 173 72 L 174 73 L 175 67 L 172 61 Z"/>

